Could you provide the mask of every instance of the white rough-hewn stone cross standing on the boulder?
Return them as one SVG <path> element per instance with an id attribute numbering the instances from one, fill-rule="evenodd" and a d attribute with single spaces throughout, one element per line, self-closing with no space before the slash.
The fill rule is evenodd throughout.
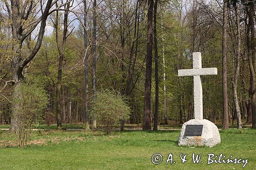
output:
<path id="1" fill-rule="evenodd" d="M 217 68 L 202 68 L 201 53 L 193 53 L 193 69 L 180 69 L 178 76 L 194 76 L 194 110 L 195 119 L 203 119 L 203 89 L 201 77 L 217 75 Z"/>

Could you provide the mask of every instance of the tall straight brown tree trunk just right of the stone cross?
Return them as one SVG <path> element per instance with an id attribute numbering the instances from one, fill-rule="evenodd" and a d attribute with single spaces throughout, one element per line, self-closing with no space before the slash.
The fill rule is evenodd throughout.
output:
<path id="1" fill-rule="evenodd" d="M 222 90 L 223 90 L 223 127 L 228 129 L 228 94 L 227 94 L 227 0 L 223 5 L 222 30 Z"/>

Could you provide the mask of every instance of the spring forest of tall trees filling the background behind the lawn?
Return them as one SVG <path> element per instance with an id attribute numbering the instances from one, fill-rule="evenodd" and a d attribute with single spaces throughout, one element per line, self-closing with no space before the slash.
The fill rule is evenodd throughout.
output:
<path id="1" fill-rule="evenodd" d="M 48 125 L 96 127 L 91 101 L 107 88 L 127 97 L 127 123 L 143 123 L 150 78 L 150 122 L 159 115 L 159 124 L 184 123 L 194 118 L 193 78 L 178 78 L 178 69 L 192 68 L 192 53 L 201 52 L 203 67 L 218 68 L 217 76 L 202 79 L 204 118 L 225 123 L 226 115 L 236 124 L 241 117 L 256 127 L 253 0 L 2 0 L 0 10 L 2 124 L 12 122 L 17 106 L 11 101 L 24 78 L 47 91 L 42 116 Z"/>

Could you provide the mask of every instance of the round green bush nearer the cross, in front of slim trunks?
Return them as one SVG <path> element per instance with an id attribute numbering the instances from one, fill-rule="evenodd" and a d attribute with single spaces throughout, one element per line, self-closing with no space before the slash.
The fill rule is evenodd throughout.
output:
<path id="1" fill-rule="evenodd" d="M 130 107 L 125 101 L 127 100 L 124 96 L 114 90 L 97 92 L 92 113 L 96 114 L 97 121 L 101 123 L 106 134 L 110 134 L 114 126 L 120 125 L 121 119 L 129 118 Z"/>

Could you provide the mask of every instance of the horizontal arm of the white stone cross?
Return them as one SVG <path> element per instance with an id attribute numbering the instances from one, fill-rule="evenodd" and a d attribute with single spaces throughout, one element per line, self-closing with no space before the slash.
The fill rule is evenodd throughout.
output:
<path id="1" fill-rule="evenodd" d="M 200 68 L 200 69 L 180 69 L 178 76 L 204 76 L 217 75 L 217 68 Z"/>

